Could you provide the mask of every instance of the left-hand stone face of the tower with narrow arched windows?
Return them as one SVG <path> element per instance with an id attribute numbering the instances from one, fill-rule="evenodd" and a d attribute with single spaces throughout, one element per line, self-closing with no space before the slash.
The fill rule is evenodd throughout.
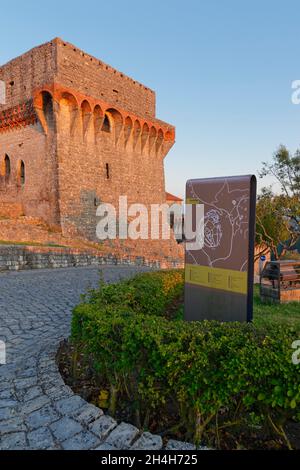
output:
<path id="1" fill-rule="evenodd" d="M 10 162 L 9 175 L 5 158 Z M 59 224 L 56 166 L 55 136 L 46 137 L 39 123 L 0 133 L 0 216 L 24 214 Z"/>

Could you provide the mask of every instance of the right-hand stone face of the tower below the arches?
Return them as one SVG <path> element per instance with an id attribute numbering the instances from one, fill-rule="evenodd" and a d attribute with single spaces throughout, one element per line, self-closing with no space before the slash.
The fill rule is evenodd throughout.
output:
<path id="1" fill-rule="evenodd" d="M 66 109 L 60 115 L 57 124 L 63 233 L 94 240 L 97 206 L 107 202 L 118 208 L 120 195 L 127 196 L 128 204 L 138 202 L 150 207 L 151 203 L 165 202 L 167 150 L 158 149 L 155 142 L 150 145 L 149 141 L 142 146 L 142 136 L 135 140 L 133 133 L 126 140 L 123 124 L 117 137 L 115 121 L 111 132 L 97 133 L 93 119 L 85 131 L 82 119 L 74 122 L 70 130 L 68 112 Z"/>

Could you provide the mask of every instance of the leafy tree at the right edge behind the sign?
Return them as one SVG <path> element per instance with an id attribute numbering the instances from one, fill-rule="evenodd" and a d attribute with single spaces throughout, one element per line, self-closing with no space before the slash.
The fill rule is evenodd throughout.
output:
<path id="1" fill-rule="evenodd" d="M 300 150 L 294 155 L 281 145 L 271 163 L 263 162 L 261 178 L 272 175 L 280 193 L 263 188 L 256 206 L 256 243 L 259 255 L 271 249 L 276 259 L 300 239 Z M 280 247 L 280 250 L 279 250 Z"/>

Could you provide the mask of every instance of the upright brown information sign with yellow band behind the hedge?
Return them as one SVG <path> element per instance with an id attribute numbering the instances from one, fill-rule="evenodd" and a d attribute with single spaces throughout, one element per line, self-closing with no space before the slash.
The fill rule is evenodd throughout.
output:
<path id="1" fill-rule="evenodd" d="M 255 203 L 253 175 L 187 181 L 186 204 L 204 212 L 200 247 L 186 243 L 186 320 L 252 320 Z M 196 231 L 195 214 L 186 226 Z"/>

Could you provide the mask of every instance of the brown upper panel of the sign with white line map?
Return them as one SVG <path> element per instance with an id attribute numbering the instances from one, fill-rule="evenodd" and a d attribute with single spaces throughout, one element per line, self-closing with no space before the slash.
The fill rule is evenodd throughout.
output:
<path id="1" fill-rule="evenodd" d="M 237 187 L 238 183 L 238 187 Z M 204 246 L 186 250 L 186 263 L 246 271 L 250 210 L 249 180 L 190 180 L 186 202 L 204 204 Z"/>

